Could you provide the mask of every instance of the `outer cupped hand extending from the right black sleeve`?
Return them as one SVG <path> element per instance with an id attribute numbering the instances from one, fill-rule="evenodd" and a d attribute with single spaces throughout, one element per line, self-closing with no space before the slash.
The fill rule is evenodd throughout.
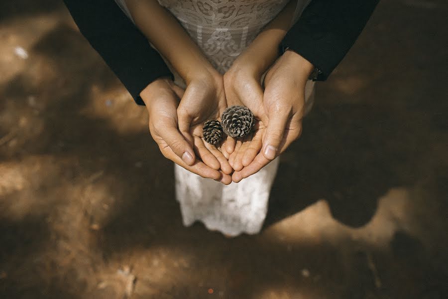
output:
<path id="1" fill-rule="evenodd" d="M 262 136 L 262 151 L 241 171 L 232 175 L 234 182 L 259 171 L 302 133 L 305 108 L 305 85 L 313 65 L 293 51 L 286 51 L 265 77 L 263 108 L 266 131 Z"/>

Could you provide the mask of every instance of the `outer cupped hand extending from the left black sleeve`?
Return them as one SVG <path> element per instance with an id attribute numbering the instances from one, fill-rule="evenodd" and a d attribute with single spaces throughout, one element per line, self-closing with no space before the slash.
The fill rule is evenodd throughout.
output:
<path id="1" fill-rule="evenodd" d="M 183 94 L 169 79 L 155 80 L 140 93 L 149 114 L 149 132 L 166 158 L 202 177 L 223 180 L 223 173 L 195 159 L 192 146 L 177 129 L 177 107 Z"/>

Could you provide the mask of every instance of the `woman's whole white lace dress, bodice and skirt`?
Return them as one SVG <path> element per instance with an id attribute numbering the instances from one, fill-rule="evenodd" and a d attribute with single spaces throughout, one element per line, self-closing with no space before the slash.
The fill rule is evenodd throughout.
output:
<path id="1" fill-rule="evenodd" d="M 310 0 L 298 0 L 296 21 Z M 116 0 L 131 18 L 124 0 Z M 159 0 L 182 24 L 205 55 L 224 74 L 236 57 L 288 0 Z M 132 18 L 131 18 L 132 19 Z M 185 86 L 172 70 L 175 82 Z M 306 87 L 306 112 L 313 102 L 314 83 Z M 175 164 L 176 199 L 185 226 L 201 221 L 210 230 L 228 236 L 260 231 L 267 213 L 269 193 L 278 158 L 239 183 L 223 185 Z"/>

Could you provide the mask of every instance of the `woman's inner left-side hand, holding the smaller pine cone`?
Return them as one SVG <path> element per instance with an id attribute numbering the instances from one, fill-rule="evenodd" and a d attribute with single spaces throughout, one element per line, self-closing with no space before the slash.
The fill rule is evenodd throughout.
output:
<path id="1" fill-rule="evenodd" d="M 221 181 L 229 184 L 229 174 L 233 169 L 227 157 L 220 151 L 221 148 L 206 143 L 202 138 L 204 123 L 210 119 L 218 119 L 227 106 L 223 77 L 215 70 L 203 70 L 186 82 L 187 89 L 177 108 L 179 130 L 194 145 L 198 157 L 211 168 L 221 170 Z"/>

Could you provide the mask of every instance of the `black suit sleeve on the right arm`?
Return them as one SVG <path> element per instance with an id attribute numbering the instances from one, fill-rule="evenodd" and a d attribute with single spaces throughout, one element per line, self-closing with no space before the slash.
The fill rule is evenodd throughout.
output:
<path id="1" fill-rule="evenodd" d="M 310 61 L 326 80 L 364 28 L 379 0 L 312 0 L 288 31 L 282 49 Z"/>

